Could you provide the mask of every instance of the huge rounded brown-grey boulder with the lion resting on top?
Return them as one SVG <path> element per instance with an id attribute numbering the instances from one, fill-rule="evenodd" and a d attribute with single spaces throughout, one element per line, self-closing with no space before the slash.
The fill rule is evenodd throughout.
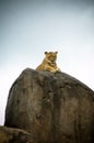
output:
<path id="1" fill-rule="evenodd" d="M 4 124 L 42 143 L 94 143 L 94 91 L 64 73 L 27 68 L 10 89 Z"/>

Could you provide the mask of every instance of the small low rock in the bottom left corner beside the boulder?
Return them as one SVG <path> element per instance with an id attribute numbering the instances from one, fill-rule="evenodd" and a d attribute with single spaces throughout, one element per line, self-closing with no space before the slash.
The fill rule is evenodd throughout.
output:
<path id="1" fill-rule="evenodd" d="M 37 143 L 35 139 L 24 130 L 0 127 L 0 143 Z"/>

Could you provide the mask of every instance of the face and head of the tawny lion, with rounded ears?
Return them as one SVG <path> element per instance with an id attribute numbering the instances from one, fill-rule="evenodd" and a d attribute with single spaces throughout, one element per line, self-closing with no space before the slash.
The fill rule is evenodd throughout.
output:
<path id="1" fill-rule="evenodd" d="M 58 52 L 45 52 L 46 59 L 50 63 L 56 63 Z"/>

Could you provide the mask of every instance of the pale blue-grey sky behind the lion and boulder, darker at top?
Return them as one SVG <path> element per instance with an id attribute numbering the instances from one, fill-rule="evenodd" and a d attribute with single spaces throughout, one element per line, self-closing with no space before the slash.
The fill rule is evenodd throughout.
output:
<path id="1" fill-rule="evenodd" d="M 0 124 L 13 81 L 46 51 L 94 90 L 94 0 L 0 0 Z"/>

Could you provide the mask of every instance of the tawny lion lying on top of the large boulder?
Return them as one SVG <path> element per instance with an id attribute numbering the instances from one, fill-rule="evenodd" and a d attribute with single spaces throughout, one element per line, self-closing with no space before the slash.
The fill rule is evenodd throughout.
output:
<path id="1" fill-rule="evenodd" d="M 36 70 L 47 70 L 51 73 L 60 72 L 60 68 L 58 68 L 56 64 L 57 54 L 58 52 L 45 52 L 45 58 Z"/>

